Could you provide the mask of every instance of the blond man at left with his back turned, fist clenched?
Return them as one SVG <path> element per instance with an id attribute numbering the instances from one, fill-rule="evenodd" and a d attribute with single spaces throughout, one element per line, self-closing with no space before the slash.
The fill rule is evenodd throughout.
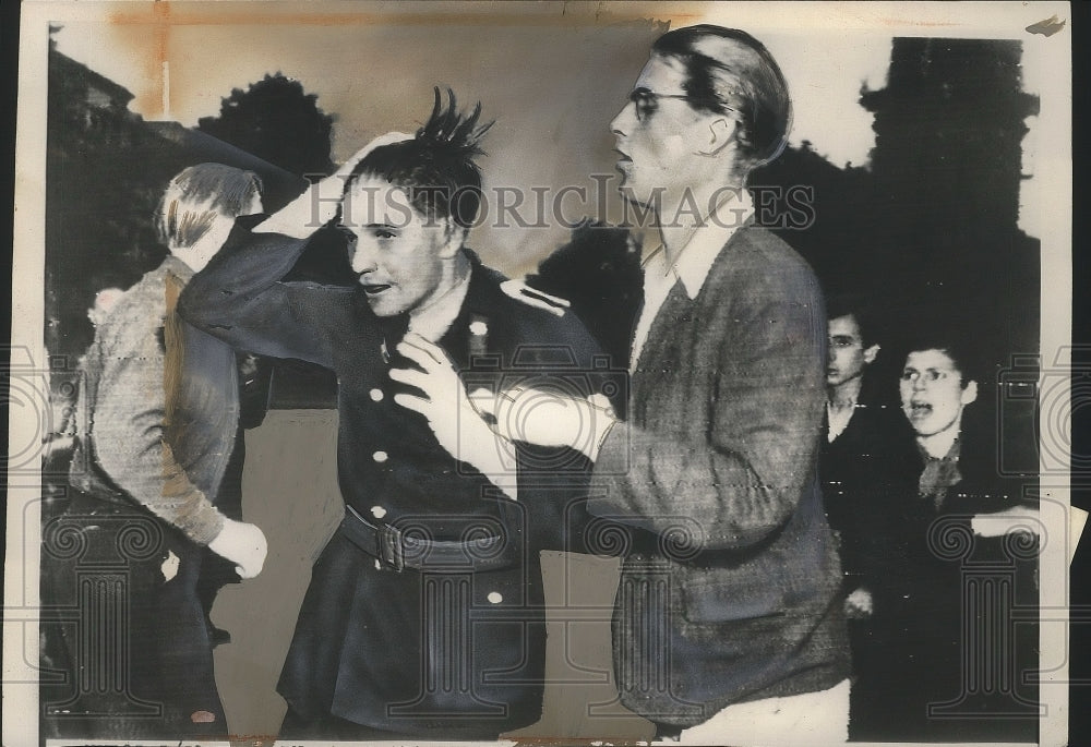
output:
<path id="1" fill-rule="evenodd" d="M 227 732 L 197 580 L 205 549 L 250 578 L 262 569 L 266 543 L 261 529 L 214 505 L 237 434 L 235 352 L 185 324 L 175 305 L 236 218 L 260 212 L 255 174 L 219 164 L 184 169 L 156 215 L 169 255 L 108 313 L 93 311 L 72 497 L 45 528 L 43 555 L 47 599 L 80 611 L 79 621 L 60 626 L 65 686 L 75 694 L 46 704 L 60 733 L 121 739 Z M 73 532 L 82 538 L 76 555 L 69 552 Z M 87 566 L 103 564 L 125 575 L 85 587 Z M 115 605 L 127 616 L 108 615 Z"/>

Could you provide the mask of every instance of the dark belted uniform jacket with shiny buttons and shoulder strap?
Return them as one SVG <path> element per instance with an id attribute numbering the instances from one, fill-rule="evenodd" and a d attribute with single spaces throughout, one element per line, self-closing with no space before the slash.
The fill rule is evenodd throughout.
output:
<path id="1" fill-rule="evenodd" d="M 404 320 L 376 318 L 356 288 L 280 282 L 304 241 L 247 234 L 238 243 L 187 287 L 182 315 L 236 348 L 317 363 L 338 379 L 348 513 L 314 566 L 279 691 L 304 718 L 435 738 L 532 723 L 544 672 L 538 551 L 562 549 L 565 527 L 578 526 L 567 498 L 572 485 L 586 487 L 586 460 L 520 448 L 518 502 L 502 497 L 439 445 L 421 415 L 394 403 L 387 359 Z M 466 299 L 439 342 L 468 388 L 537 377 L 589 394 L 598 350 L 579 322 L 515 300 L 499 274 L 471 261 Z M 399 571 L 396 553 L 376 557 L 374 545 L 353 542 L 362 522 L 425 542 L 501 537 L 502 549 L 481 554 L 506 561 L 467 551 L 454 567 Z"/>

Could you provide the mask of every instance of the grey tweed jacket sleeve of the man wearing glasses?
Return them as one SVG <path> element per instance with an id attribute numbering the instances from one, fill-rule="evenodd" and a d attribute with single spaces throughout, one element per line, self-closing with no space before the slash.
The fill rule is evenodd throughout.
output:
<path id="1" fill-rule="evenodd" d="M 680 437 L 686 427 L 655 423 L 610 431 L 595 466 L 607 495 L 591 502 L 592 513 L 657 533 L 686 517 L 709 550 L 746 547 L 787 522 L 815 480 L 826 333 L 813 276 L 783 286 L 738 304 L 735 318 L 709 321 L 708 335 L 733 324 L 733 342 L 699 394 L 671 394 L 679 418 L 704 419 L 708 408 L 704 435 Z M 706 397 L 708 406 L 694 401 Z"/>

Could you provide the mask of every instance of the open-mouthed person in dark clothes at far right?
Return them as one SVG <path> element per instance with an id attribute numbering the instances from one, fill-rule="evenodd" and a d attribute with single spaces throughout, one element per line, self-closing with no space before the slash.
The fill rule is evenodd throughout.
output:
<path id="1" fill-rule="evenodd" d="M 1038 659 L 1036 513 L 997 469 L 994 423 L 975 417 L 981 366 L 948 326 L 922 325 L 907 346 L 913 469 L 888 483 L 871 529 L 886 547 L 872 575 L 880 659 L 854 737 L 1033 740 L 1036 690 L 1022 676 Z"/>

